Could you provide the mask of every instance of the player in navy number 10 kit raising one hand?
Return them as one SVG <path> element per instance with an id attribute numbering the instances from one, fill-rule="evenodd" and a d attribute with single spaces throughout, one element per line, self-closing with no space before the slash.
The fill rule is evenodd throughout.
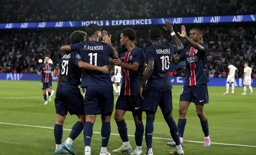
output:
<path id="1" fill-rule="evenodd" d="M 173 31 L 173 26 L 168 20 L 165 21 L 165 30 L 171 32 L 171 36 L 176 45 L 161 43 L 162 32 L 159 28 L 153 28 L 150 31 L 149 38 L 152 45 L 145 49 L 147 69 L 140 84 L 139 96 L 144 98 L 142 110 L 146 112 L 147 122 L 145 127 L 145 140 L 147 144 L 147 153 L 153 155 L 152 138 L 154 130 L 155 113 L 159 106 L 167 125 L 169 126 L 171 136 L 176 142 L 176 149 L 171 154 L 183 155 L 184 151 L 180 145 L 177 125 L 173 119 L 172 110 L 172 91 L 173 88 L 169 77 L 169 65 L 173 53 L 180 53 L 183 50 L 181 41 Z M 143 87 L 146 85 L 146 93 L 142 96 Z"/>

